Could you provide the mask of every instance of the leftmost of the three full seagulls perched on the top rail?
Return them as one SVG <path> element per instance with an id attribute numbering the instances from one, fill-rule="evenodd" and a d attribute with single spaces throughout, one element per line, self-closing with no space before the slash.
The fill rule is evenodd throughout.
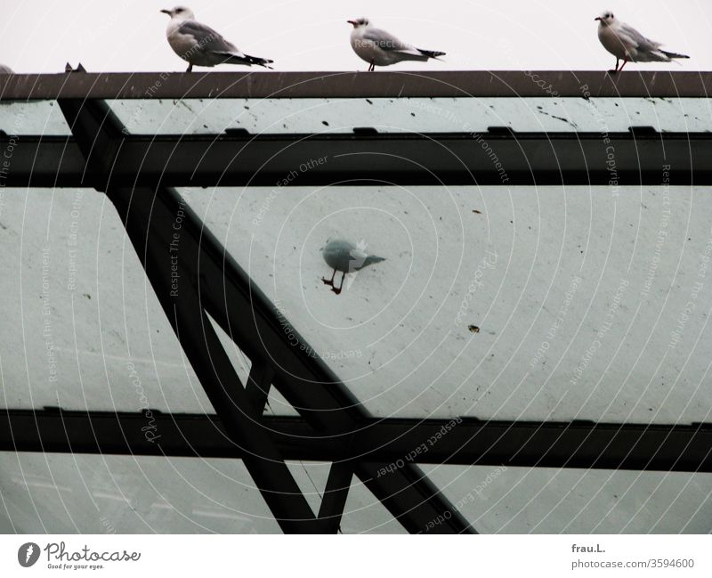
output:
<path id="1" fill-rule="evenodd" d="M 173 10 L 161 10 L 171 20 L 166 28 L 168 44 L 184 61 L 189 63 L 186 72 L 196 66 L 214 66 L 215 64 L 258 64 L 264 68 L 272 61 L 265 58 L 241 53 L 235 45 L 225 40 L 213 28 L 195 20 L 190 8 L 176 6 Z"/>

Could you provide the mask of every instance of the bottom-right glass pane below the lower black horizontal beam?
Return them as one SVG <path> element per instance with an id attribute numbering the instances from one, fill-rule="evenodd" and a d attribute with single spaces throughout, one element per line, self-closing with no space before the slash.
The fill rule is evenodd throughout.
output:
<path id="1" fill-rule="evenodd" d="M 712 476 L 426 466 L 481 533 L 709 533 Z"/>

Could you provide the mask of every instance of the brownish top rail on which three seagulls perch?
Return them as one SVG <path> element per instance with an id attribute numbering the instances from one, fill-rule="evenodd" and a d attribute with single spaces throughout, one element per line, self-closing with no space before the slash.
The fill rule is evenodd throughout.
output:
<path id="1" fill-rule="evenodd" d="M 132 72 L 17 74 L 0 101 L 57 98 L 395 98 L 435 96 L 702 97 L 712 73 L 601 70 Z"/>

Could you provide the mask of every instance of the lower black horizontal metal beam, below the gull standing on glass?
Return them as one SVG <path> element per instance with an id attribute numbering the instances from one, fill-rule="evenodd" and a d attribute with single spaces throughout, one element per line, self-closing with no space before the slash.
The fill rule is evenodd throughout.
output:
<path id="1" fill-rule="evenodd" d="M 302 418 L 264 416 L 286 460 L 712 472 L 712 425 L 365 419 L 320 436 Z M 215 416 L 159 411 L 0 411 L 0 450 L 241 458 Z M 384 465 L 387 464 L 387 465 Z M 375 468 L 372 476 L 379 476 Z M 382 481 L 380 480 L 380 481 Z"/>

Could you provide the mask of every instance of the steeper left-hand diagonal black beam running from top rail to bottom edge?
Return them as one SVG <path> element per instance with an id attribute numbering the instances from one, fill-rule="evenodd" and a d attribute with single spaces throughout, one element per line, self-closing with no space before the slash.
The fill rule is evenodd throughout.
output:
<path id="1" fill-rule="evenodd" d="M 153 191 L 111 183 L 113 159 L 121 147 L 121 127 L 108 107 L 71 100 L 59 104 L 88 166 L 104 175 L 93 185 L 106 191 L 117 208 L 168 322 L 225 431 L 242 448 L 247 471 L 275 520 L 285 533 L 320 533 L 322 524 L 279 450 L 267 431 L 255 423 L 247 392 L 200 304 L 197 279 L 190 277 L 191 264 L 199 259 L 199 246 L 184 240 L 174 247 L 176 214 L 154 198 Z"/>

